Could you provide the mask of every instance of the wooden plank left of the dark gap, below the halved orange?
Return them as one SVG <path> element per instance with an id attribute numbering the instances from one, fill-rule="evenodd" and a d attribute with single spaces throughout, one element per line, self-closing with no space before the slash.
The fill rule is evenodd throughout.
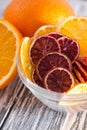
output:
<path id="1" fill-rule="evenodd" d="M 23 87 L 24 85 L 16 77 L 8 87 L 0 90 L 0 128 L 4 124 Z"/>

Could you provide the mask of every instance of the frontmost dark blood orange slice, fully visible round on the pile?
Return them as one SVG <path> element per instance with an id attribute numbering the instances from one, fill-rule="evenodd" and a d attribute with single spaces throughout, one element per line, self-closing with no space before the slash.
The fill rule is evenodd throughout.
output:
<path id="1" fill-rule="evenodd" d="M 74 78 L 70 71 L 58 67 L 47 73 L 44 84 L 47 89 L 64 93 L 74 86 Z"/>

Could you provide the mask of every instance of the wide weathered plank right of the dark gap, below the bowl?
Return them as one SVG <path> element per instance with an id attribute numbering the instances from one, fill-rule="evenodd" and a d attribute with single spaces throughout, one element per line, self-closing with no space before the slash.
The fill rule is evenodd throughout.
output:
<path id="1" fill-rule="evenodd" d="M 66 113 L 43 105 L 24 87 L 2 130 L 61 130 Z"/>

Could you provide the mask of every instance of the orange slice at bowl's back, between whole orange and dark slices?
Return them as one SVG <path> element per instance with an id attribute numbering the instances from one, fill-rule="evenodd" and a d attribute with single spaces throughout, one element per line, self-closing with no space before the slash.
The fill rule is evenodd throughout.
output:
<path id="1" fill-rule="evenodd" d="M 36 32 L 34 33 L 34 38 L 38 38 L 50 32 L 56 32 L 56 29 L 57 29 L 57 26 L 54 26 L 54 25 L 43 25 L 36 30 Z"/>

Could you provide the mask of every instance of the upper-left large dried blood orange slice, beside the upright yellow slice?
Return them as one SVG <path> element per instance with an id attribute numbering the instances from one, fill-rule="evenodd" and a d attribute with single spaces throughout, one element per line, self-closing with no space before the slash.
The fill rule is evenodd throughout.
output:
<path id="1" fill-rule="evenodd" d="M 31 61 L 33 64 L 37 64 L 41 57 L 47 53 L 58 51 L 60 51 L 60 46 L 55 38 L 50 36 L 39 37 L 32 44 L 30 50 Z"/>

